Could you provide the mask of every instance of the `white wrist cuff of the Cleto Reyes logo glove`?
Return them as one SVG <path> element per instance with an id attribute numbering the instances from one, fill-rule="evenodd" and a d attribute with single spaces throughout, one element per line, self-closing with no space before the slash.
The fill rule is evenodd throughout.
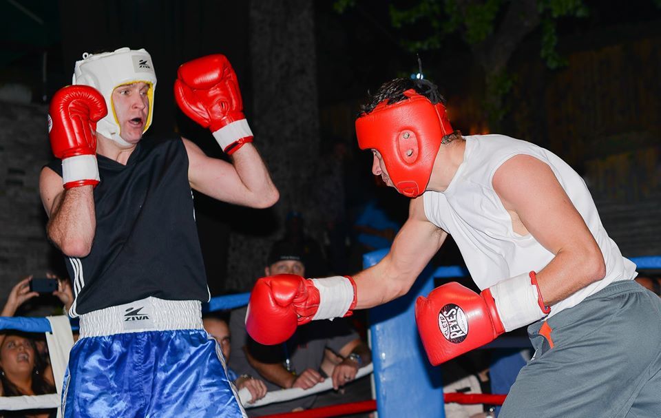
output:
<path id="1" fill-rule="evenodd" d="M 546 316 L 539 306 L 539 292 L 529 273 L 516 275 L 490 287 L 505 331 L 532 324 Z"/>

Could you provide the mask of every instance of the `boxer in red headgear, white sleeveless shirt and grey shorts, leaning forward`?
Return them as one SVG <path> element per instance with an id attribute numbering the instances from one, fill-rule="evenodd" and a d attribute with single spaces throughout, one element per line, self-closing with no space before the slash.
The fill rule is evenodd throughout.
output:
<path id="1" fill-rule="evenodd" d="M 353 278 L 258 280 L 249 333 L 273 344 L 403 295 L 452 234 L 482 291 L 448 283 L 419 297 L 432 364 L 528 326 L 536 354 L 501 417 L 658 415 L 661 300 L 633 280 L 583 179 L 532 143 L 461 136 L 444 104 L 429 81 L 396 79 L 363 107 L 359 146 L 373 152 L 373 174 L 412 198 L 408 220 L 383 260 Z"/>

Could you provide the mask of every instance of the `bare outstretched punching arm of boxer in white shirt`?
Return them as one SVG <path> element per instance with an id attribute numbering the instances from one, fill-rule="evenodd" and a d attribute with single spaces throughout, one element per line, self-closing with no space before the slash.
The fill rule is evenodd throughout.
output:
<path id="1" fill-rule="evenodd" d="M 358 295 L 356 309 L 384 304 L 408 292 L 447 236 L 427 219 L 422 196 L 411 200 L 408 220 L 390 252 L 373 267 L 353 276 Z"/>

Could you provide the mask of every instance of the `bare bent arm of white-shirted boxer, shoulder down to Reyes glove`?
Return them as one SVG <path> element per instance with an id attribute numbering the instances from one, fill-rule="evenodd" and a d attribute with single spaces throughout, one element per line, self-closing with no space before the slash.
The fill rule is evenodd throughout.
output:
<path id="1" fill-rule="evenodd" d="M 496 170 L 493 185 L 505 209 L 554 254 L 537 272 L 547 305 L 604 277 L 605 262 L 594 236 L 547 164 L 532 156 L 512 157 Z"/>

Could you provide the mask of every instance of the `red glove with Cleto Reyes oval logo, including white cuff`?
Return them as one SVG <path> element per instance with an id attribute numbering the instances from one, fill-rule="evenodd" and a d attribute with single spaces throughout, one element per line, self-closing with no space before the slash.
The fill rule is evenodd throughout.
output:
<path id="1" fill-rule="evenodd" d="M 415 302 L 415 322 L 434 366 L 549 312 L 534 271 L 503 280 L 479 295 L 457 282 L 443 284 Z"/>

